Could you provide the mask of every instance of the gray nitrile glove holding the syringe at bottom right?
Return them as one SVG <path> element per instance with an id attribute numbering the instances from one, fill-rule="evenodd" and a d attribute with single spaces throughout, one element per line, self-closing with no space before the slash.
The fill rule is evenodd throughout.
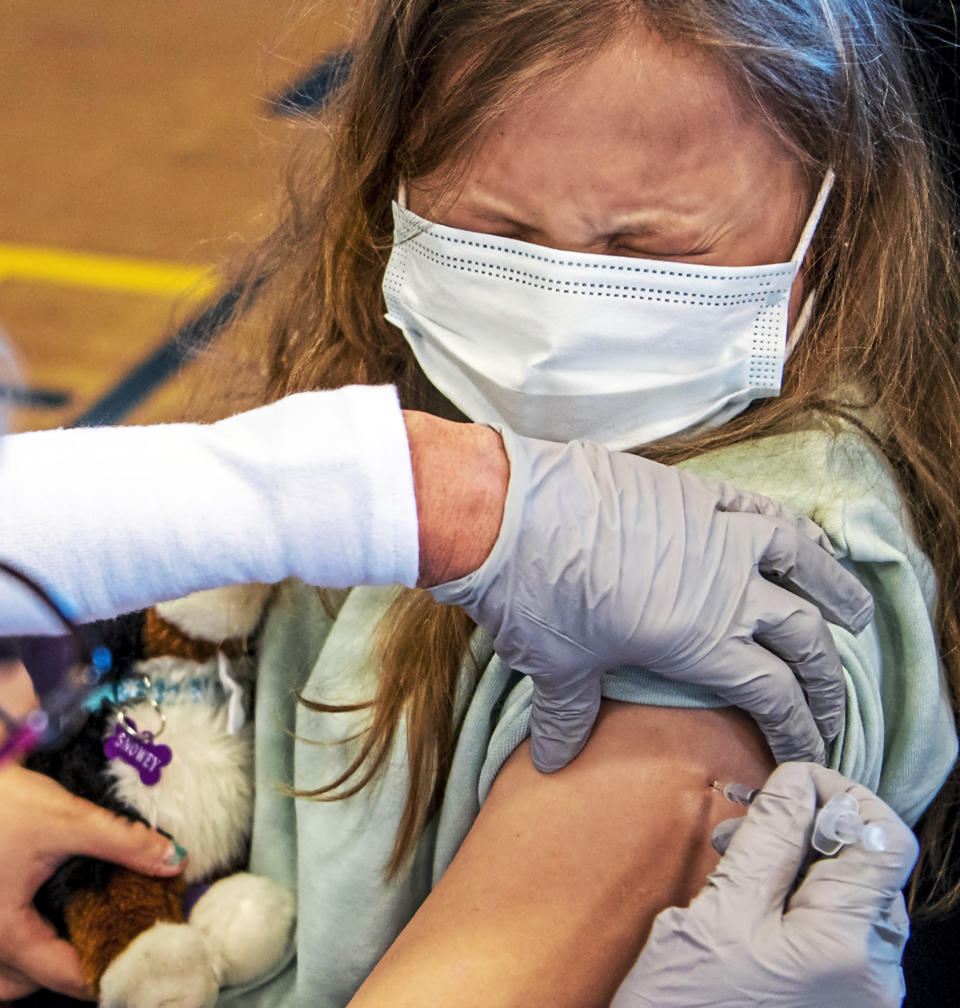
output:
<path id="1" fill-rule="evenodd" d="M 816 862 L 816 806 L 849 791 L 885 850 L 859 844 Z M 910 924 L 901 889 L 917 840 L 878 797 L 833 770 L 779 767 L 757 795 L 704 890 L 653 921 L 611 1008 L 894 1008 Z"/>

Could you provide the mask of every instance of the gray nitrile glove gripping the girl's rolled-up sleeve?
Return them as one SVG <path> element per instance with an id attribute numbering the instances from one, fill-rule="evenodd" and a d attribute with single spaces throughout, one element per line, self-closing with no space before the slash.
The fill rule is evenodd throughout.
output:
<path id="1" fill-rule="evenodd" d="M 603 672 L 625 664 L 745 709 L 777 761 L 823 762 L 844 688 L 821 613 L 858 632 L 873 606 L 819 527 L 636 456 L 500 432 L 510 482 L 497 540 L 477 571 L 432 592 L 532 678 L 537 768 L 580 752 Z"/>

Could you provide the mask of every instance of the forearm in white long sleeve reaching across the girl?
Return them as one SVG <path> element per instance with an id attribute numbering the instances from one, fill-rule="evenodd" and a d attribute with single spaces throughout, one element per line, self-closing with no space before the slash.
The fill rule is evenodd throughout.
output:
<path id="1" fill-rule="evenodd" d="M 396 392 L 352 386 L 213 424 L 5 437 L 0 558 L 79 620 L 287 577 L 412 586 L 416 503 Z M 0 633 L 50 629 L 0 579 Z"/>

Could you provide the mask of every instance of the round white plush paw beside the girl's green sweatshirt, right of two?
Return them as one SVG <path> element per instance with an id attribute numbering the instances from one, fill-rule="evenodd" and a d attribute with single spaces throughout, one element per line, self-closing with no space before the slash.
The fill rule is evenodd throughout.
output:
<path id="1" fill-rule="evenodd" d="M 294 919 L 292 895 L 270 879 L 247 872 L 215 882 L 190 915 L 225 986 L 266 973 L 283 955 Z"/>

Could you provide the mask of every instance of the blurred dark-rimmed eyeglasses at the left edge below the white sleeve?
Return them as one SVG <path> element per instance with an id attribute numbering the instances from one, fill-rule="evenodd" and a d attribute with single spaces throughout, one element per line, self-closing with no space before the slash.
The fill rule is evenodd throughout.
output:
<path id="1" fill-rule="evenodd" d="M 78 626 L 32 578 L 0 561 L 0 600 L 41 613 L 53 633 L 0 637 L 0 685 L 29 675 L 39 706 L 24 715 L 4 708 L 0 691 L 0 764 L 37 747 L 49 746 L 76 732 L 87 717 L 90 691 L 110 670 L 110 651 L 95 642 L 89 628 Z M 0 604 L 3 604 L 0 602 Z M 9 706 L 9 700 L 6 701 Z"/>

